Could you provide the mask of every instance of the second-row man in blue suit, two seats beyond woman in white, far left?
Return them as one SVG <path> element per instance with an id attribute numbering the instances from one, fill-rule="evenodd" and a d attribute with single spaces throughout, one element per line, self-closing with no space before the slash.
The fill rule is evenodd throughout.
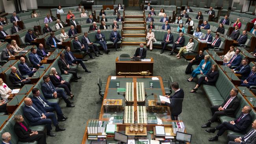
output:
<path id="1" fill-rule="evenodd" d="M 22 76 L 28 75 L 29 77 L 32 77 L 33 74 L 37 72 L 36 68 L 31 68 L 28 66 L 28 64 L 25 62 L 24 57 L 20 57 L 19 70 Z"/>

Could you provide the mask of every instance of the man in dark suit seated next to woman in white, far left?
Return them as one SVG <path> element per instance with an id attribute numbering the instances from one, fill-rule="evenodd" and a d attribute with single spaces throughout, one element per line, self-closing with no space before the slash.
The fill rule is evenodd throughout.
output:
<path id="1" fill-rule="evenodd" d="M 30 84 L 31 78 L 26 78 L 24 76 L 21 76 L 19 71 L 15 66 L 11 66 L 11 73 L 9 74 L 9 80 L 13 83 L 13 85 L 16 85 L 18 83 L 21 84 L 21 86 L 25 84 Z"/>

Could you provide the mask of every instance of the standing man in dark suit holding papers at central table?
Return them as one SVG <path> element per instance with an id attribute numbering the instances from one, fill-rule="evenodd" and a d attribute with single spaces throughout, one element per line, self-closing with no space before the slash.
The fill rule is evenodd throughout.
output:
<path id="1" fill-rule="evenodd" d="M 171 103 L 167 103 L 165 101 L 161 101 L 161 103 L 167 105 L 171 109 L 171 118 L 172 120 L 178 120 L 178 115 L 182 112 L 182 102 L 184 99 L 184 91 L 179 88 L 178 83 L 172 83 L 171 85 L 173 91 L 175 92 L 173 96 L 166 96 L 167 98 L 171 98 Z"/>

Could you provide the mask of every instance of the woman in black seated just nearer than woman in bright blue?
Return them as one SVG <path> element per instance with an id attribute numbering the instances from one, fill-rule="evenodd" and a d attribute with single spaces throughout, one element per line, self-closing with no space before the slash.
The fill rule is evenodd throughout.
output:
<path id="1" fill-rule="evenodd" d="M 198 79 L 197 85 L 190 92 L 191 93 L 196 92 L 198 87 L 200 87 L 200 85 L 215 85 L 218 77 L 219 77 L 218 65 L 214 64 L 212 65 L 211 70 L 209 70 L 206 76 L 202 76 Z"/>

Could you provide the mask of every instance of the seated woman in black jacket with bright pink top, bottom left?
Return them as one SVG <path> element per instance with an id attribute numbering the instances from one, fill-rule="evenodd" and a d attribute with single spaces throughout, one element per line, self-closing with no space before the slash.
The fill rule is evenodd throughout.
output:
<path id="1" fill-rule="evenodd" d="M 38 144 L 46 144 L 45 131 L 32 131 L 26 123 L 22 115 L 14 116 L 14 131 L 20 142 L 31 142 L 36 140 Z"/>

